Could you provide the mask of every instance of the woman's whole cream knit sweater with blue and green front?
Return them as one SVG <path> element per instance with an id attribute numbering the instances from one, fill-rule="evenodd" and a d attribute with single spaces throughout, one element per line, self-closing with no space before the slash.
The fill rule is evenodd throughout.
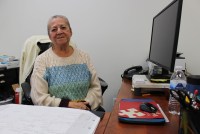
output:
<path id="1" fill-rule="evenodd" d="M 59 57 L 52 48 L 39 55 L 31 76 L 35 105 L 59 106 L 61 99 L 85 100 L 92 109 L 102 105 L 101 86 L 89 55 L 77 48 Z"/>

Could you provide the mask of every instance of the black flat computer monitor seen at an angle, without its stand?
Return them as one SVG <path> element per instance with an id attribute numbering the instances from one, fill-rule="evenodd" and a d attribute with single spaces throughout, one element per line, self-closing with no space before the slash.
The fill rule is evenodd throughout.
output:
<path id="1" fill-rule="evenodd" d="M 174 0 L 153 18 L 148 60 L 174 71 L 181 21 L 182 0 Z"/>

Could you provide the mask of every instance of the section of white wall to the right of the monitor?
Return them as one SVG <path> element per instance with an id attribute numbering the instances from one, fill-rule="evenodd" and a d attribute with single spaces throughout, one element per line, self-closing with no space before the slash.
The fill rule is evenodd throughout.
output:
<path id="1" fill-rule="evenodd" d="M 186 57 L 188 72 L 200 75 L 200 1 L 184 0 L 179 50 Z"/>

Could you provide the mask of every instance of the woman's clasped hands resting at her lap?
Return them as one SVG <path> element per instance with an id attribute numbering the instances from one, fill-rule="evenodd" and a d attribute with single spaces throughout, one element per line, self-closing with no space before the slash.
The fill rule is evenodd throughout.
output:
<path id="1" fill-rule="evenodd" d="M 83 109 L 83 110 L 90 110 L 89 107 L 87 107 L 89 103 L 85 101 L 70 101 L 68 104 L 68 107 L 70 108 L 77 108 L 77 109 Z"/>

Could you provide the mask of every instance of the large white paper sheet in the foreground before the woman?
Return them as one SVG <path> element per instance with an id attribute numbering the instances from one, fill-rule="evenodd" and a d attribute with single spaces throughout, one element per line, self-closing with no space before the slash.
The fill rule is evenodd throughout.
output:
<path id="1" fill-rule="evenodd" d="M 0 106 L 0 134 L 93 134 L 100 118 L 86 110 L 8 104 Z"/>

